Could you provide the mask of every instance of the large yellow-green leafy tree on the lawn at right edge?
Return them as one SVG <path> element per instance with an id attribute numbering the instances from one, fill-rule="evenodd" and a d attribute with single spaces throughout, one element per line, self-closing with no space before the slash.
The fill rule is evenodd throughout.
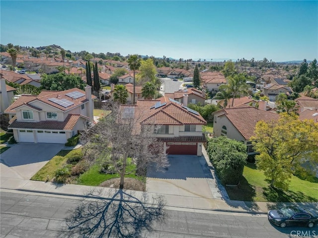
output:
<path id="1" fill-rule="evenodd" d="M 304 173 L 302 163 L 318 168 L 318 123 L 281 114 L 278 121 L 259 121 L 254 142 L 257 168 L 264 171 L 272 187 L 287 189 L 293 174 Z"/>

